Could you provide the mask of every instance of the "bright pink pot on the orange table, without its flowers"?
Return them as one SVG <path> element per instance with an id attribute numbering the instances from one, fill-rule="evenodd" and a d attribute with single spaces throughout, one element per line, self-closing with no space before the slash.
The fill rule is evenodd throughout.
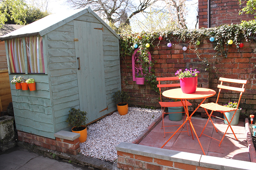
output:
<path id="1" fill-rule="evenodd" d="M 197 90 L 197 77 L 184 77 L 180 79 L 180 88 L 183 93 L 195 93 Z"/>

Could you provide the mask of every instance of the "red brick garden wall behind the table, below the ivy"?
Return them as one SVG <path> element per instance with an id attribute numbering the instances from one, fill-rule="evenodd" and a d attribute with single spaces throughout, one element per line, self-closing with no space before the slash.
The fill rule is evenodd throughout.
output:
<path id="1" fill-rule="evenodd" d="M 158 42 L 158 41 L 156 41 Z M 171 48 L 167 47 L 167 42 L 161 41 L 161 44 L 152 51 L 150 51 L 156 62 L 154 70 L 156 77 L 172 77 L 178 69 L 197 68 L 200 73 L 198 75 L 198 87 L 211 88 L 217 91 L 217 84 L 219 84 L 219 77 L 232 79 L 248 80 L 243 93 L 240 107 L 242 113 L 254 114 L 256 110 L 256 54 L 255 45 L 252 42 L 243 42 L 244 47 L 237 49 L 233 44 L 229 46 L 227 58 L 217 58 L 217 71 L 205 71 L 206 66 L 201 60 L 208 60 L 211 63 L 216 59 L 213 57 L 216 51 L 213 49 L 213 44 L 210 40 L 201 41 L 198 46 L 201 60 L 197 57 L 195 49 L 182 50 L 182 45 L 175 45 Z M 125 62 L 124 62 L 125 60 Z M 151 89 L 149 85 L 137 85 L 132 80 L 132 56 L 121 58 L 121 84 L 122 90 L 128 91 L 131 98 L 128 102 L 129 106 L 153 106 L 160 108 L 158 104 L 160 95 Z M 126 63 L 126 64 L 125 64 Z M 212 67 L 212 65 L 211 65 Z M 208 99 L 208 102 L 215 102 L 217 95 Z M 227 93 L 221 95 L 219 102 L 226 104 L 229 101 L 237 101 L 238 93 Z M 189 101 L 195 108 L 198 100 Z M 207 101 L 206 101 L 207 102 Z M 190 108 L 190 111 L 193 111 Z M 205 113 L 202 108 L 198 109 L 199 113 Z"/>

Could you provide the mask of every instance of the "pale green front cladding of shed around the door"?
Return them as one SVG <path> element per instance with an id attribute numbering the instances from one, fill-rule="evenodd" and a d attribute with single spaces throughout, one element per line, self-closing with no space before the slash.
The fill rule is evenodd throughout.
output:
<path id="1" fill-rule="evenodd" d="M 86 13 L 75 20 L 101 24 L 91 13 Z M 108 106 L 106 113 L 110 113 L 116 110 L 112 101 L 113 93 L 121 90 L 119 40 L 108 28 L 103 26 L 103 29 L 104 74 Z M 48 66 L 50 68 L 50 88 L 52 89 L 52 104 L 56 123 L 55 131 L 70 130 L 67 122 L 65 122 L 69 110 L 71 107 L 79 108 L 74 21 L 51 31 L 45 36 L 48 41 Z"/>

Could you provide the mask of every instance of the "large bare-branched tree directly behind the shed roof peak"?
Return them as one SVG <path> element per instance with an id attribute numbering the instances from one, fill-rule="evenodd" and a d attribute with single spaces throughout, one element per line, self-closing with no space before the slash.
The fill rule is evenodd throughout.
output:
<path id="1" fill-rule="evenodd" d="M 90 6 L 99 16 L 117 26 L 129 25 L 130 19 L 158 0 L 67 0 L 74 8 Z"/>

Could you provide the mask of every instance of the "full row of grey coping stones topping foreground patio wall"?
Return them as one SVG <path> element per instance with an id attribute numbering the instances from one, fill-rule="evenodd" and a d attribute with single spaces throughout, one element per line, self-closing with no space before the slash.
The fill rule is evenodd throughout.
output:
<path id="1" fill-rule="evenodd" d="M 253 162 L 179 152 L 124 142 L 118 144 L 116 146 L 116 150 L 119 152 L 126 152 L 130 154 L 142 155 L 156 159 L 163 159 L 167 161 L 218 170 L 254 170 L 256 167 L 256 163 Z"/>

